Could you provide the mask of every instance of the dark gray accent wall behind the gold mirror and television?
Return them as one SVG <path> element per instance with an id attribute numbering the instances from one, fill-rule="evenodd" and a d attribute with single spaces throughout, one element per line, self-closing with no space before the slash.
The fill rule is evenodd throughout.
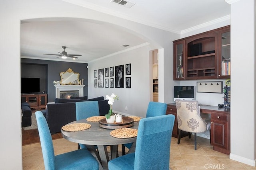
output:
<path id="1" fill-rule="evenodd" d="M 41 91 L 48 94 L 47 102 L 54 102 L 55 87 L 53 81 L 60 81 L 60 72 L 71 68 L 80 74 L 79 79 L 84 78 L 84 96 L 88 96 L 88 64 L 62 61 L 48 61 L 36 59 L 21 59 L 21 77 L 40 77 Z"/>

